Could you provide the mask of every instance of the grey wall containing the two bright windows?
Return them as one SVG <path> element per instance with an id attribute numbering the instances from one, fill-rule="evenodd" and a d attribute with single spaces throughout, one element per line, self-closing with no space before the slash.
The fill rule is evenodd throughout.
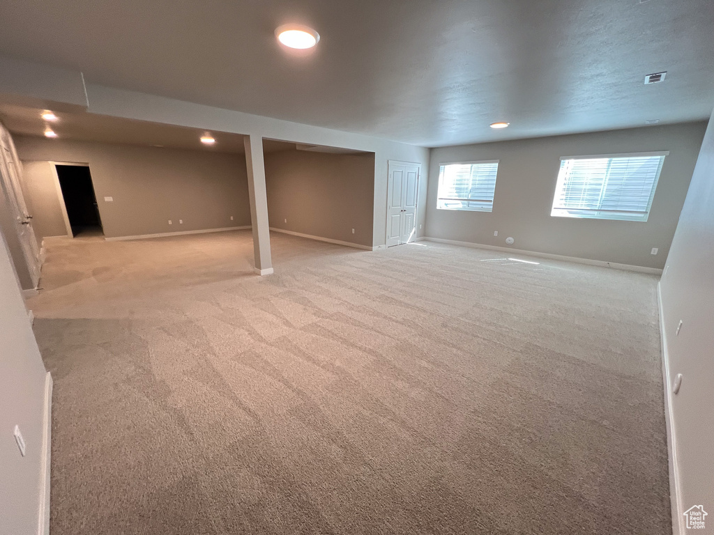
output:
<path id="1" fill-rule="evenodd" d="M 705 123 L 435 148 L 428 185 L 426 235 L 628 265 L 664 266 L 704 136 Z M 562 156 L 670 151 L 646 222 L 554 218 Z M 439 165 L 499 160 L 493 212 L 437 210 Z M 498 237 L 493 232 L 498 230 Z M 658 248 L 658 255 L 650 250 Z"/>

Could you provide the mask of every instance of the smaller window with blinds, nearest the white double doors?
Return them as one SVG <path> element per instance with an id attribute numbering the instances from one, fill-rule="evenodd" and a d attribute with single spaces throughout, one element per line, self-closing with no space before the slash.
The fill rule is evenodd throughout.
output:
<path id="1" fill-rule="evenodd" d="M 439 168 L 439 210 L 491 212 L 498 160 L 444 163 Z"/>

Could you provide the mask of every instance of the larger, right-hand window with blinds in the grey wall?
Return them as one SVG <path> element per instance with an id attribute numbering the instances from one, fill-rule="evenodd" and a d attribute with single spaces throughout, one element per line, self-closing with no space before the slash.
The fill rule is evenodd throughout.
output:
<path id="1" fill-rule="evenodd" d="M 668 154 L 560 158 L 550 215 L 646 221 Z"/>

